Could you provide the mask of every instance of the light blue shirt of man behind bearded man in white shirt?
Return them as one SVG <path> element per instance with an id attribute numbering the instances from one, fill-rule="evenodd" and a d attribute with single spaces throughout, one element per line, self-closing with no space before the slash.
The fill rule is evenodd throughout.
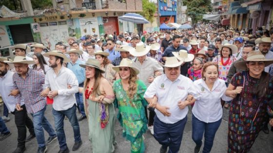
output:
<path id="1" fill-rule="evenodd" d="M 67 68 L 73 71 L 78 79 L 78 84 L 82 84 L 85 80 L 85 68 L 80 67 L 80 64 L 85 64 L 83 61 L 77 60 L 74 64 L 69 62 Z"/>

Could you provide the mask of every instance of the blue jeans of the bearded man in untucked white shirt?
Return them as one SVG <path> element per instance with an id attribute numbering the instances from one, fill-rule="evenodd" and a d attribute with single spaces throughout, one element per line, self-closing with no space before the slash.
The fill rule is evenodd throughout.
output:
<path id="1" fill-rule="evenodd" d="M 77 109 L 76 104 L 67 110 L 57 111 L 54 108 L 52 109 L 55 122 L 55 129 L 58 136 L 59 147 L 61 150 L 67 148 L 66 138 L 63 130 L 63 120 L 65 116 L 69 119 L 71 126 L 73 128 L 75 142 L 81 141 L 76 109 Z"/>

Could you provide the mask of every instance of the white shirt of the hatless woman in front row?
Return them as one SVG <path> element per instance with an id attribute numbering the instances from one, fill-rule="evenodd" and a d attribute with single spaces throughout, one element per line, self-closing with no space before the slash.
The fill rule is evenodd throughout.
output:
<path id="1" fill-rule="evenodd" d="M 223 115 L 221 98 L 224 101 L 232 100 L 225 95 L 227 89 L 225 81 L 216 79 L 212 91 L 203 79 L 196 80 L 194 85 L 199 95 L 199 100 L 195 101 L 192 110 L 195 117 L 206 123 L 221 119 Z"/>

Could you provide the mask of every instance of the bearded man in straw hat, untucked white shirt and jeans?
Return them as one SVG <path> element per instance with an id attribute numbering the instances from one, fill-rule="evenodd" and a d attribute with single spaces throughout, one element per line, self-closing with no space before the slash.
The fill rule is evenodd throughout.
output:
<path id="1" fill-rule="evenodd" d="M 52 69 L 47 71 L 45 75 L 45 89 L 40 95 L 48 96 L 54 100 L 52 114 L 59 141 L 59 153 L 69 152 L 63 129 L 65 116 L 69 119 L 74 131 L 75 144 L 72 150 L 77 151 L 82 144 L 76 115 L 77 101 L 75 94 L 78 92 L 77 77 L 72 70 L 62 66 L 63 63 L 70 62 L 70 59 L 61 51 L 49 51 L 44 56 L 49 58 Z"/>

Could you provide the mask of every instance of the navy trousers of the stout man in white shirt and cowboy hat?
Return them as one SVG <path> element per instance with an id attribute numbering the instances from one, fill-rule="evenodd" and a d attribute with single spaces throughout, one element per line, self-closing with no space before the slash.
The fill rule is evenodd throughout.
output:
<path id="1" fill-rule="evenodd" d="M 178 153 L 183 137 L 187 116 L 174 124 L 167 124 L 155 116 L 154 137 L 163 148 L 169 147 L 168 153 Z"/>

